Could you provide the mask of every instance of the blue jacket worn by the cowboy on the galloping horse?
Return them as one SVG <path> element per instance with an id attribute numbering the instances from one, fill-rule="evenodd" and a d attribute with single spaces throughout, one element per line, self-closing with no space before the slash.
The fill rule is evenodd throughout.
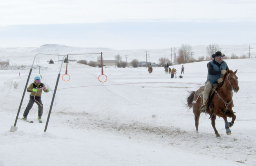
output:
<path id="1" fill-rule="evenodd" d="M 222 77 L 221 70 L 229 69 L 225 61 L 221 61 L 221 63 L 218 63 L 217 61 L 215 61 L 215 59 L 207 63 L 207 68 L 208 68 L 207 81 L 209 81 L 212 86 L 214 83 L 217 83 L 217 79 Z"/>

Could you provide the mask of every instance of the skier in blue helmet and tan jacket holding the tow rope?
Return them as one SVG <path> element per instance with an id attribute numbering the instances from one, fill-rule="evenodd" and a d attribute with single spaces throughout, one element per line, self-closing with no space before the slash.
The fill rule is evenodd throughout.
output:
<path id="1" fill-rule="evenodd" d="M 41 94 L 42 91 L 49 92 L 50 89 L 46 88 L 43 83 L 41 83 L 41 79 L 39 76 L 36 76 L 34 78 L 34 83 L 30 84 L 27 88 L 27 92 L 30 92 L 29 95 L 29 102 L 27 104 L 27 107 L 23 113 L 24 120 L 27 120 L 27 115 L 29 113 L 29 110 L 32 108 L 34 102 L 38 105 L 38 120 L 41 121 L 41 117 L 43 114 L 43 103 L 41 101 Z"/>

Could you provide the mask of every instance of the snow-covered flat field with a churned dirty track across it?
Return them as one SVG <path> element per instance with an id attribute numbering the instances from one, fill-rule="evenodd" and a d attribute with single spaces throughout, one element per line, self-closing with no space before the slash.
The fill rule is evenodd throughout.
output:
<path id="1" fill-rule="evenodd" d="M 16 57 L 14 63 L 32 64 L 24 59 Z M 220 138 L 215 137 L 209 115 L 205 114 L 201 114 L 196 134 L 193 110 L 184 104 L 188 91 L 197 90 L 201 86 L 198 84 L 206 81 L 208 61 L 184 64 L 183 79 L 170 79 L 162 67 L 154 67 L 153 74 L 145 67 L 105 67 L 105 83 L 98 80 L 101 68 L 70 63 L 71 79 L 60 79 L 44 132 L 61 65 L 46 63 L 49 59 L 40 58 L 40 74 L 35 64 L 29 80 L 30 84 L 41 75 L 41 82 L 51 89 L 42 94 L 43 123 L 36 121 L 34 104 L 28 115 L 34 123 L 18 120 L 16 132 L 9 130 L 30 66 L 25 70 L 0 70 L 0 166 L 256 165 L 255 58 L 226 60 L 229 69 L 238 69 L 240 90 L 233 95 L 237 118 L 232 134 L 226 135 L 224 120 L 216 119 Z M 181 65 L 171 67 L 177 69 L 177 77 L 181 75 Z M 64 64 L 61 76 L 65 70 Z M 26 92 L 20 118 L 28 100 Z"/>

